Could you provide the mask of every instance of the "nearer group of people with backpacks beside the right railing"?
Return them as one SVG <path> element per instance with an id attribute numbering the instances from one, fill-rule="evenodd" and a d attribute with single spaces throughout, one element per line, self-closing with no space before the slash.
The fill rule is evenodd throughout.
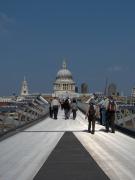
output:
<path id="1" fill-rule="evenodd" d="M 112 96 L 104 97 L 100 102 L 92 98 L 89 102 L 89 107 L 86 112 L 88 118 L 88 132 L 95 133 L 95 122 L 98 120 L 101 125 L 105 126 L 106 132 L 115 133 L 115 112 L 117 106 Z"/>

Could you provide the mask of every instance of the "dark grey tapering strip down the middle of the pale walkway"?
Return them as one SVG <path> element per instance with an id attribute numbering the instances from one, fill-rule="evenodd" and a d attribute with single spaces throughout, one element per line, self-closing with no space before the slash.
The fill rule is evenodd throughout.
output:
<path id="1" fill-rule="evenodd" d="M 71 132 L 66 132 L 34 180 L 109 178 Z"/>

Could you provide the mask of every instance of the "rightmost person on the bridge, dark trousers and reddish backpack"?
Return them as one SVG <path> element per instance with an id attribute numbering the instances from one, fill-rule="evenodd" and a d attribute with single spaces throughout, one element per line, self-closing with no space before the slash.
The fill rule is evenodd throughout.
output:
<path id="1" fill-rule="evenodd" d="M 109 132 L 109 126 L 110 126 L 111 132 L 115 133 L 115 112 L 116 112 L 116 103 L 113 97 L 110 96 L 107 105 L 106 132 Z"/>

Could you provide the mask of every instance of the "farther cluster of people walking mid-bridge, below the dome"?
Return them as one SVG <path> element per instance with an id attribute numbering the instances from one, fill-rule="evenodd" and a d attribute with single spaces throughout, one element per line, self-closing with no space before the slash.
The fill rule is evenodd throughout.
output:
<path id="1" fill-rule="evenodd" d="M 78 110 L 78 107 L 75 98 L 72 100 L 70 98 L 59 100 L 57 97 L 54 97 L 54 99 L 50 102 L 49 107 L 51 118 L 57 119 L 58 109 L 60 108 L 60 106 L 61 109 L 64 110 L 65 120 L 70 118 L 71 113 L 73 115 L 73 120 L 76 119 L 76 112 Z"/>

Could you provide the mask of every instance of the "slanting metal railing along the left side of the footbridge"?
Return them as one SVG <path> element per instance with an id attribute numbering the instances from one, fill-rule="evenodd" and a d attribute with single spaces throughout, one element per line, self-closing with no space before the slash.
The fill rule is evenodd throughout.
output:
<path id="1" fill-rule="evenodd" d="M 0 137 L 28 124 L 38 122 L 49 113 L 49 104 L 25 103 L 14 112 L 0 113 Z"/>

